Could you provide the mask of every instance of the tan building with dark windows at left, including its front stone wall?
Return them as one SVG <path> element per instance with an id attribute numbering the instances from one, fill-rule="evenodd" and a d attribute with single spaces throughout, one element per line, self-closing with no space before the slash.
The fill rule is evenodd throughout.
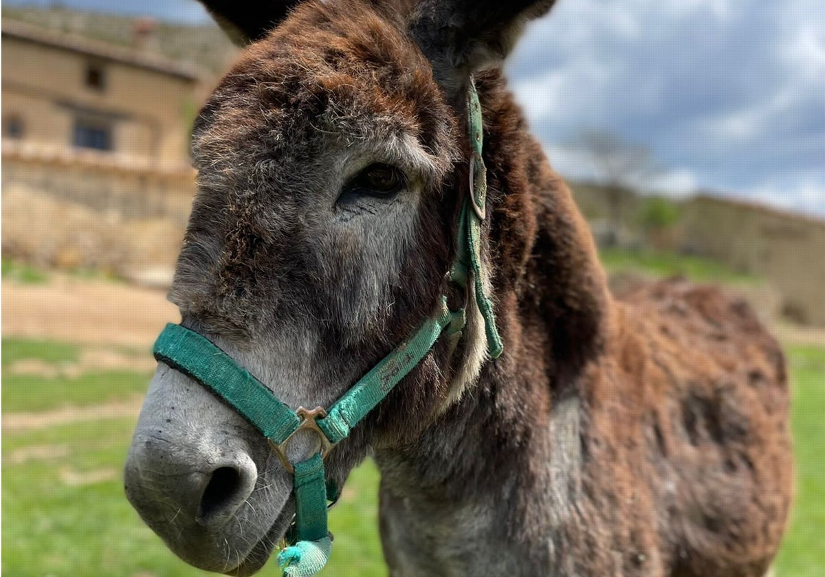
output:
<path id="1" fill-rule="evenodd" d="M 191 122 L 208 92 L 153 53 L 2 21 L 3 254 L 121 274 L 171 266 L 194 190 Z"/>

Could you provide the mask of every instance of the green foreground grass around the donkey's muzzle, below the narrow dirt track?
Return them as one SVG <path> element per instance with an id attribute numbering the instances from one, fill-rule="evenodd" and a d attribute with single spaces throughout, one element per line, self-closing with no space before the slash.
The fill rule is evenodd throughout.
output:
<path id="1" fill-rule="evenodd" d="M 25 434 L 4 434 L 2 574 L 213 575 L 177 559 L 140 521 L 123 495 L 122 468 L 132 420 L 87 421 Z M 57 446 L 55 460 L 9 464 L 25 448 Z M 110 473 L 71 486 L 66 476 Z M 375 467 L 353 473 L 352 490 L 332 513 L 336 543 L 328 575 L 385 575 L 377 534 Z M 272 563 L 262 575 L 279 575 Z"/>

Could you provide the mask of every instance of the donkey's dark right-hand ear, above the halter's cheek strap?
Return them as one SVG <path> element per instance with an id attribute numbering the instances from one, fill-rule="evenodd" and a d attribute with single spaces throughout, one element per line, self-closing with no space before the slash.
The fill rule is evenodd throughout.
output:
<path id="1" fill-rule="evenodd" d="M 418 0 L 410 33 L 430 60 L 447 96 L 456 96 L 476 70 L 501 61 L 527 21 L 555 0 Z"/>

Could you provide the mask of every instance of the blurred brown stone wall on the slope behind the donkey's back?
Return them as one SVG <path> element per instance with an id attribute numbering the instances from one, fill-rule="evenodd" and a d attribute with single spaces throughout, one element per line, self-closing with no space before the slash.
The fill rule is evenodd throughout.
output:
<path id="1" fill-rule="evenodd" d="M 598 239 L 606 226 L 606 191 L 573 183 L 573 195 Z M 757 204 L 706 195 L 676 202 L 667 231 L 644 230 L 645 197 L 622 195 L 620 244 L 707 256 L 733 270 L 765 279 L 780 293 L 786 316 L 825 326 L 825 222 Z"/>

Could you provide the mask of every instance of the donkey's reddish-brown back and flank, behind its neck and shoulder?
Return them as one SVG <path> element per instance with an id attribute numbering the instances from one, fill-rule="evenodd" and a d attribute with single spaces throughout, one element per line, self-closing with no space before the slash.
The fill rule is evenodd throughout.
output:
<path id="1" fill-rule="evenodd" d="M 742 300 L 681 280 L 625 294 L 616 317 L 582 435 L 582 515 L 610 527 L 613 547 L 578 559 L 618 556 L 625 575 L 762 575 L 792 492 L 779 345 Z"/>

